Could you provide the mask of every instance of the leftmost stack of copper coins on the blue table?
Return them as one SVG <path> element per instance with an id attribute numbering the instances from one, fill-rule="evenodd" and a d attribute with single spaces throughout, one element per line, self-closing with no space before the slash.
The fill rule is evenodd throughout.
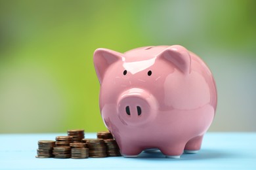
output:
<path id="1" fill-rule="evenodd" d="M 38 141 L 38 149 L 36 158 L 51 158 L 53 157 L 53 147 L 55 141 Z"/>

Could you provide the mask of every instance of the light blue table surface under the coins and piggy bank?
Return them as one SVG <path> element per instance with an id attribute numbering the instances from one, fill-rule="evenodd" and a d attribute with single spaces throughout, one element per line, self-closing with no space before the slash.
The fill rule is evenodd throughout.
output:
<path id="1" fill-rule="evenodd" d="M 66 134 L 0 134 L 0 169 L 256 169 L 256 133 L 206 133 L 200 152 L 181 158 L 161 152 L 142 152 L 138 158 L 35 158 L 37 141 L 58 135 Z"/>

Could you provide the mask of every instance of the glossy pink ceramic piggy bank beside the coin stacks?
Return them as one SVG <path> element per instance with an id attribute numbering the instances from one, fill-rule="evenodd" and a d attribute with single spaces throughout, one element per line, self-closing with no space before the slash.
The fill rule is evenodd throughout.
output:
<path id="1" fill-rule="evenodd" d="M 100 112 L 121 154 L 158 148 L 167 158 L 200 150 L 217 105 L 207 65 L 183 46 L 146 46 L 124 54 L 98 48 Z"/>

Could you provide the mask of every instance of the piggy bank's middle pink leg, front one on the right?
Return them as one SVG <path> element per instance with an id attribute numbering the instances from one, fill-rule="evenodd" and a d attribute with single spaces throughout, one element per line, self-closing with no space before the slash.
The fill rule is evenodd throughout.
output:
<path id="1" fill-rule="evenodd" d="M 166 156 L 166 158 L 180 158 L 183 150 L 184 143 L 171 144 L 169 146 L 161 147 L 161 152 Z"/>

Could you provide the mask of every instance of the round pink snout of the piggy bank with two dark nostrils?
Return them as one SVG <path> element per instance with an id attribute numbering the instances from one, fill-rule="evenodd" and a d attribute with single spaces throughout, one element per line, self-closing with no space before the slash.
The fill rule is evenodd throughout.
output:
<path id="1" fill-rule="evenodd" d="M 119 118 L 124 124 L 142 124 L 154 118 L 156 99 L 139 88 L 123 92 L 118 100 Z"/>

